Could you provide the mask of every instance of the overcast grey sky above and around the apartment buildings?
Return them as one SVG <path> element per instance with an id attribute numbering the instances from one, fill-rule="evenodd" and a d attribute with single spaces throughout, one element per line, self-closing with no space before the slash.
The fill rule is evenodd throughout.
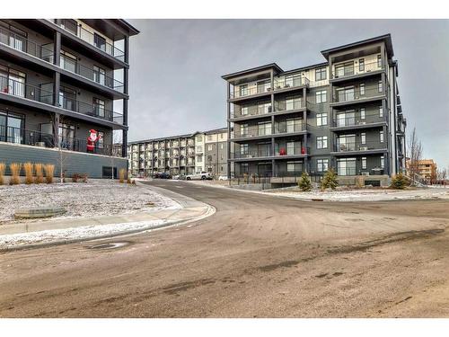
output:
<path id="1" fill-rule="evenodd" d="M 128 140 L 226 126 L 222 75 L 276 62 L 325 61 L 321 50 L 392 34 L 408 136 L 449 167 L 449 20 L 128 20 Z"/>

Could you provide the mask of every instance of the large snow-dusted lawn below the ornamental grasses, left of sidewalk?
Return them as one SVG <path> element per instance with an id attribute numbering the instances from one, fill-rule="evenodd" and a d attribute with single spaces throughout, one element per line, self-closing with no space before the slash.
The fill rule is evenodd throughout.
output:
<path id="1" fill-rule="evenodd" d="M 145 186 L 111 180 L 0 186 L 0 225 L 15 221 L 15 208 L 45 206 L 66 208 L 67 212 L 62 217 L 92 217 L 180 208 L 177 202 Z"/>

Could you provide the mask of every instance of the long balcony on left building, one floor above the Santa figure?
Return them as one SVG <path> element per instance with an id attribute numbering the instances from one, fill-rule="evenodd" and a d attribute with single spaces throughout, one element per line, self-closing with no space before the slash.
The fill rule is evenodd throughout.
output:
<path id="1" fill-rule="evenodd" d="M 123 115 L 121 113 L 104 109 L 98 105 L 92 105 L 63 96 L 59 96 L 58 104 L 53 105 L 53 92 L 42 89 L 42 86 L 44 85 L 48 84 L 40 84 L 40 86 L 35 86 L 0 75 L 0 94 L 8 94 L 22 99 L 44 103 L 48 106 L 67 111 L 79 112 L 101 120 L 108 120 L 114 123 L 123 124 Z M 26 102 L 24 103 L 27 104 Z"/>

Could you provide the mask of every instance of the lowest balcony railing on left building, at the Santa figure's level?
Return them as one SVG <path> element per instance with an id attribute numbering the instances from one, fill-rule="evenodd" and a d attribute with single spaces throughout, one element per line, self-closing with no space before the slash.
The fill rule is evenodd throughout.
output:
<path id="1" fill-rule="evenodd" d="M 59 139 L 56 140 L 56 143 L 58 144 L 55 144 L 55 140 L 55 137 L 48 133 L 0 125 L 0 141 L 2 142 L 48 148 L 58 147 L 64 150 L 93 153 L 97 155 L 118 155 L 116 153 L 117 150 L 109 144 L 99 146 L 97 143 L 93 152 L 88 152 L 87 138 L 59 137 Z"/>

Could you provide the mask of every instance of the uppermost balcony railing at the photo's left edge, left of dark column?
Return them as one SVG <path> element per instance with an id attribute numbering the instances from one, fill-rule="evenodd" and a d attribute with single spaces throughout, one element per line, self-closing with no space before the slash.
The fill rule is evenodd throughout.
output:
<path id="1" fill-rule="evenodd" d="M 48 49 L 41 46 L 35 41 L 28 40 L 22 35 L 16 34 L 13 31 L 6 30 L 0 27 L 0 43 L 9 46 L 13 49 L 22 51 L 33 57 L 43 59 L 49 63 L 53 63 L 53 49 Z"/>

